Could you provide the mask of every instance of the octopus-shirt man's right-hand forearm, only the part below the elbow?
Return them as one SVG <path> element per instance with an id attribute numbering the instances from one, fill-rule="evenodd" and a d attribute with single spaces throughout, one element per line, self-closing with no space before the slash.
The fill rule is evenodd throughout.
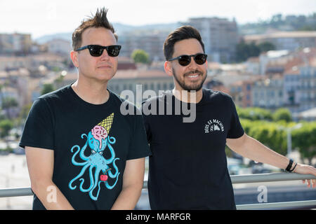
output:
<path id="1" fill-rule="evenodd" d="M 114 202 L 112 210 L 129 210 L 134 209 L 142 192 L 141 185 L 127 186 L 121 190 L 119 197 Z"/>

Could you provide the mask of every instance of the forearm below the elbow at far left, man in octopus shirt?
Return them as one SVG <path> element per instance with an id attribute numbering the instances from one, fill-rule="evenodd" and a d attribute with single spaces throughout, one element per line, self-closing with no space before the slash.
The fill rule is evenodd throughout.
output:
<path id="1" fill-rule="evenodd" d="M 51 180 L 32 183 L 32 190 L 47 210 L 73 210 L 65 195 Z"/>

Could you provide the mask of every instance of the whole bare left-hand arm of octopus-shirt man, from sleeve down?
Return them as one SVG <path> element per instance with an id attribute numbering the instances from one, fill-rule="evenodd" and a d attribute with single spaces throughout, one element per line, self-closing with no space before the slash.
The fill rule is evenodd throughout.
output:
<path id="1" fill-rule="evenodd" d="M 25 146 L 31 188 L 46 209 L 73 209 L 53 183 L 54 151 Z M 55 194 L 52 195 L 51 194 Z"/>

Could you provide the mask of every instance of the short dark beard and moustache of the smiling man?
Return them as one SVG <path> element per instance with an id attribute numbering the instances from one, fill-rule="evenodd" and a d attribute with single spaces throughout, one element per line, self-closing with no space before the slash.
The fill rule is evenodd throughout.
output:
<path id="1" fill-rule="evenodd" d="M 172 68 L 172 73 L 173 73 L 174 79 L 180 85 L 180 87 L 182 87 L 183 90 L 186 90 L 188 92 L 201 90 L 201 88 L 204 84 L 204 81 L 206 80 L 206 77 L 207 77 L 207 70 L 205 71 L 205 75 L 202 71 L 199 71 L 199 70 L 188 71 L 187 73 L 183 74 L 182 80 L 180 80 L 180 77 L 176 75 L 176 71 L 173 68 Z M 197 73 L 199 76 L 204 75 L 204 77 L 202 78 L 202 80 L 197 80 L 197 82 L 195 82 L 195 83 L 186 84 L 185 83 L 185 76 L 189 76 L 192 73 Z"/>

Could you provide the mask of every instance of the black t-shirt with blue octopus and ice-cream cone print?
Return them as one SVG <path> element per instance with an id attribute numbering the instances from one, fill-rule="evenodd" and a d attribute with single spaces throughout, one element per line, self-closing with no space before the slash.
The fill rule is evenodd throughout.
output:
<path id="1" fill-rule="evenodd" d="M 53 183 L 74 209 L 111 209 L 126 160 L 150 155 L 142 116 L 123 116 L 109 92 L 89 104 L 67 85 L 36 99 L 25 123 L 20 146 L 54 150 Z M 36 195 L 33 209 L 45 209 Z"/>

